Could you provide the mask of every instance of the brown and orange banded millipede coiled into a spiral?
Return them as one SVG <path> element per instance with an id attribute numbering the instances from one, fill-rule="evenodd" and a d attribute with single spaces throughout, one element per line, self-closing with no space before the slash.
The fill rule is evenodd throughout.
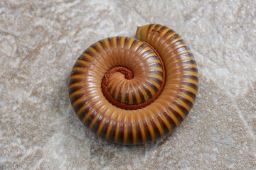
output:
<path id="1" fill-rule="evenodd" d="M 186 118 L 198 68 L 180 35 L 158 24 L 136 38 L 105 38 L 75 62 L 69 95 L 78 118 L 98 136 L 124 145 L 154 141 Z"/>

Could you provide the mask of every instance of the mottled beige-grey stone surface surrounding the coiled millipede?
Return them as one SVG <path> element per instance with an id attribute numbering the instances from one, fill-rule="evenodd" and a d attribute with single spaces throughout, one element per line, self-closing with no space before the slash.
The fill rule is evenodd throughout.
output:
<path id="1" fill-rule="evenodd" d="M 255 1 L 0 1 L 0 169 L 256 169 Z M 80 53 L 161 23 L 200 72 L 188 118 L 164 139 L 114 145 L 70 106 Z"/>

